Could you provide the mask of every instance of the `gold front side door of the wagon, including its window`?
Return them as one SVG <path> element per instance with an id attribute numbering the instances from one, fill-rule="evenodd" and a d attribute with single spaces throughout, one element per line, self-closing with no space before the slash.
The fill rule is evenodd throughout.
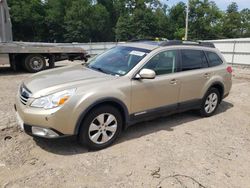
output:
<path id="1" fill-rule="evenodd" d="M 134 116 L 157 110 L 176 109 L 180 84 L 178 51 L 163 51 L 151 58 L 143 68 L 156 72 L 155 79 L 132 80 L 131 111 Z"/>

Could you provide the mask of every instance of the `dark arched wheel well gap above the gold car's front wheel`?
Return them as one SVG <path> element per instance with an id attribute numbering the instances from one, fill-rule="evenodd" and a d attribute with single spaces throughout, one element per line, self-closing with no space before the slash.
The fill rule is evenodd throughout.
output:
<path id="1" fill-rule="evenodd" d="M 120 104 L 119 102 L 115 102 L 115 101 L 104 101 L 104 102 L 100 102 L 97 104 L 94 104 L 92 106 L 90 106 L 90 108 L 88 108 L 83 114 L 82 117 L 80 118 L 80 120 L 77 123 L 77 127 L 75 130 L 75 133 L 78 134 L 80 127 L 83 123 L 83 121 L 85 120 L 86 116 L 94 109 L 94 108 L 98 108 L 100 106 L 104 106 L 104 105 L 110 105 L 114 108 L 116 108 L 117 110 L 119 110 L 119 112 L 121 113 L 122 116 L 122 129 L 124 130 L 126 128 L 126 123 L 127 123 L 127 116 L 128 116 L 128 112 L 126 111 L 124 105 Z"/>

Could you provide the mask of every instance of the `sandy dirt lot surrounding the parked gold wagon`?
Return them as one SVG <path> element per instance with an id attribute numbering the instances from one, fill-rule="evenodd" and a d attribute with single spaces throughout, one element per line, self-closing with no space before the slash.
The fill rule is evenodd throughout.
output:
<path id="1" fill-rule="evenodd" d="M 250 70 L 215 116 L 193 112 L 137 124 L 97 152 L 74 138 L 34 140 L 13 110 L 29 74 L 0 68 L 0 187 L 250 187 Z"/>

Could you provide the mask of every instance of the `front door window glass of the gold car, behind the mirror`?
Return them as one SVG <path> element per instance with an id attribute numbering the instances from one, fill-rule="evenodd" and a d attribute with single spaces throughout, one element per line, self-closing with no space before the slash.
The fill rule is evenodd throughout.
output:
<path id="1" fill-rule="evenodd" d="M 176 72 L 178 51 L 169 50 L 160 52 L 150 59 L 143 68 L 152 69 L 156 75 Z"/>

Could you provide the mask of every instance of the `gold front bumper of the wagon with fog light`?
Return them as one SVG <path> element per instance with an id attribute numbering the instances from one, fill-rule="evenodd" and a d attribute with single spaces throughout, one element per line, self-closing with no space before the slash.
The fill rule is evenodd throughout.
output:
<path id="1" fill-rule="evenodd" d="M 18 124 L 22 124 L 21 128 L 29 135 L 45 138 L 74 135 L 76 124 L 68 107 L 51 110 L 33 108 L 23 104 L 17 95 L 14 108 Z"/>

